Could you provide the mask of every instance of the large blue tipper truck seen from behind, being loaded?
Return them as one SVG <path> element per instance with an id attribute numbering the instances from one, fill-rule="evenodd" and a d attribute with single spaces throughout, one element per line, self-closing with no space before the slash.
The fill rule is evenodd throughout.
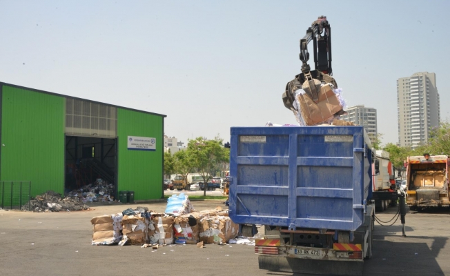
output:
<path id="1" fill-rule="evenodd" d="M 264 226 L 260 268 L 362 275 L 374 156 L 363 126 L 231 128 L 229 216 L 248 237 Z"/>

